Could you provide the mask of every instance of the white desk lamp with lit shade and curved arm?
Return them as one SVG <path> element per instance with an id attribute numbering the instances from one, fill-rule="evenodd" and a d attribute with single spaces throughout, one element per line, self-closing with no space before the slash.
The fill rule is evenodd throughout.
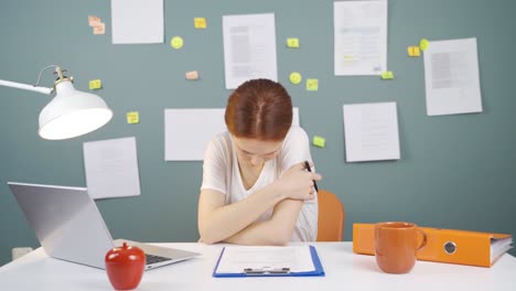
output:
<path id="1" fill-rule="evenodd" d="M 53 88 L 40 87 L 42 73 L 54 68 L 57 79 Z M 112 117 L 112 111 L 106 103 L 95 94 L 76 90 L 73 77 L 63 75 L 66 69 L 56 65 L 44 67 L 40 72 L 35 85 L 25 85 L 0 79 L 0 86 L 33 90 L 55 97 L 40 112 L 40 129 L 37 133 L 47 140 L 71 139 L 92 132 L 106 125 Z"/>

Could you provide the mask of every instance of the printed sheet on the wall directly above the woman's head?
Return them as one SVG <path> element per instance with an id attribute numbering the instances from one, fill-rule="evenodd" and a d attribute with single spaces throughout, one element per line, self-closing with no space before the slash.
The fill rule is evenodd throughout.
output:
<path id="1" fill-rule="evenodd" d="M 278 80 L 275 14 L 223 17 L 226 88 L 252 78 Z"/>

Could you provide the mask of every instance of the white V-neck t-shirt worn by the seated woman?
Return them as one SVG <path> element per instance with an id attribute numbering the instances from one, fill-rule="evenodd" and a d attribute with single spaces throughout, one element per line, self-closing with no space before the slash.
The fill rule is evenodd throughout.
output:
<path id="1" fill-rule="evenodd" d="M 203 164 L 201 190 L 211 188 L 226 195 L 226 205 L 244 200 L 249 194 L 278 180 L 292 165 L 312 161 L 307 132 L 292 126 L 283 140 L 278 155 L 267 161 L 260 176 L 249 190 L 244 187 L 235 144 L 226 131 L 215 136 L 206 147 Z M 269 219 L 272 209 L 267 211 L 258 220 Z M 314 241 L 318 236 L 318 200 L 304 202 L 292 233 L 291 241 Z"/>

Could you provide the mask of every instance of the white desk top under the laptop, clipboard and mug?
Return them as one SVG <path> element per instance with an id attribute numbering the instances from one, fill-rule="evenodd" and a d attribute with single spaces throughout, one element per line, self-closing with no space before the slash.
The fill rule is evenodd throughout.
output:
<path id="1" fill-rule="evenodd" d="M 160 244 L 203 254 L 147 271 L 137 290 L 515 290 L 516 258 L 492 268 L 418 261 L 408 274 L 387 274 L 373 256 L 352 252 L 352 242 L 313 244 L 325 277 L 213 278 L 222 245 Z M 0 290 L 111 290 L 106 272 L 49 258 L 39 248 L 0 268 Z"/>

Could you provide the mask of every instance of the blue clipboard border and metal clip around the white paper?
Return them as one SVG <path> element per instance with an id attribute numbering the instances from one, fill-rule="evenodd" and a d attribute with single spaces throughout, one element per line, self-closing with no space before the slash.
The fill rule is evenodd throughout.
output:
<path id="1" fill-rule="evenodd" d="M 312 262 L 315 268 L 313 271 L 305 271 L 305 272 L 291 272 L 290 268 L 279 268 L 279 269 L 250 269 L 244 268 L 241 272 L 218 272 L 218 265 L 224 256 L 224 251 L 226 247 L 223 248 L 221 251 L 221 256 L 218 257 L 217 263 L 215 265 L 215 269 L 213 270 L 213 277 L 215 278 L 245 278 L 245 277 L 313 277 L 320 276 L 324 277 L 324 269 L 321 265 L 321 260 L 319 259 L 318 251 L 315 247 L 310 246 L 310 255 L 312 257 Z"/>

